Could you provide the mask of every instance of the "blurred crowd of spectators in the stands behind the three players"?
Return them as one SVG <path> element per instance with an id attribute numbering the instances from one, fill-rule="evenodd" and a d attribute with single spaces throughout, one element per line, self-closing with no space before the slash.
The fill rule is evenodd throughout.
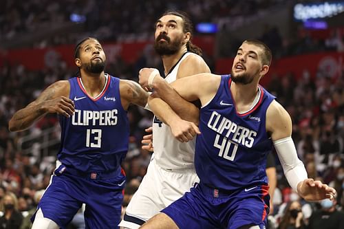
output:
<path id="1" fill-rule="evenodd" d="M 160 67 L 158 56 L 156 58 L 155 61 L 152 61 L 142 56 L 131 65 L 124 65 L 122 61 L 118 60 L 118 62 L 109 63 L 106 72 L 121 78 L 138 80 L 137 73 L 135 76 L 136 69 L 144 67 L 147 63 L 152 67 Z M 75 69 L 68 69 L 63 63 L 39 72 L 28 71 L 23 65 L 6 64 L 1 69 L 0 211 L 5 215 L 8 208 L 21 212 L 17 215 L 19 218 L 21 216 L 25 218 L 32 214 L 30 210 L 35 208 L 42 190 L 49 184 L 50 175 L 54 169 L 54 155 L 58 149 L 56 148 L 55 151 L 52 149 L 49 155 L 45 155 L 41 151 L 23 153 L 17 147 L 18 140 L 23 135 L 34 134 L 54 126 L 57 129 L 57 138 L 59 134 L 58 119 L 54 115 L 46 116 L 34 127 L 20 133 L 8 132 L 8 120 L 14 111 L 32 101 L 41 89 L 56 80 L 67 79 L 74 74 Z M 277 96 L 277 100 L 286 107 L 292 116 L 294 123 L 292 137 L 309 177 L 321 179 L 336 188 L 338 196 L 334 209 L 341 210 L 344 206 L 344 74 L 342 73 L 338 78 L 330 78 L 327 76 L 327 72 L 319 69 L 316 76 L 311 76 L 305 70 L 303 77 L 299 80 L 292 74 L 268 77 L 271 80 L 266 88 Z M 131 136 L 129 151 L 122 164 L 127 173 L 124 207 L 138 188 L 149 164 L 151 153 L 140 148 L 140 140 L 144 135 L 144 129 L 151 125 L 153 117 L 149 111 L 136 106 L 129 109 L 128 116 Z M 36 143 L 39 144 L 39 142 Z M 275 208 L 270 219 L 275 220 L 277 225 L 279 222 L 285 222 L 286 219 L 283 217 L 287 217 L 287 215 L 292 217 L 292 214 L 296 214 L 291 213 L 291 210 L 294 209 L 292 206 L 297 206 L 295 208 L 303 212 L 302 222 L 309 224 L 314 218 L 312 215 L 323 206 L 305 203 L 299 199 L 297 193 L 290 190 L 278 159 L 276 162 L 279 179 L 273 199 Z M 292 204 L 295 201 L 297 204 Z M 10 203 L 10 205 L 6 203 Z M 287 214 L 288 211 L 290 214 Z M 78 217 L 82 218 L 82 213 Z"/>

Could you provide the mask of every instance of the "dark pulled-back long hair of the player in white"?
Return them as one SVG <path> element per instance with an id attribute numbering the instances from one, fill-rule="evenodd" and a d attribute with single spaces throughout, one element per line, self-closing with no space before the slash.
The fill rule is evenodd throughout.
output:
<path id="1" fill-rule="evenodd" d="M 177 17 L 181 17 L 183 20 L 183 32 L 190 32 L 190 40 L 186 43 L 186 48 L 189 52 L 193 52 L 197 55 L 202 56 L 202 50 L 200 47 L 197 47 L 197 45 L 194 45 L 191 42 L 191 39 L 193 37 L 193 23 L 191 22 L 191 19 L 189 18 L 189 15 L 186 14 L 186 12 L 180 11 L 180 10 L 167 10 L 164 12 L 159 18 L 164 17 L 166 15 L 175 15 Z"/>

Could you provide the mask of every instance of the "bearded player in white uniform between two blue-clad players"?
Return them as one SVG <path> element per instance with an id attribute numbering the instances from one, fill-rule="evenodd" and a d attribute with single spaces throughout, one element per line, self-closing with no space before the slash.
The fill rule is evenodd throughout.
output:
<path id="1" fill-rule="evenodd" d="M 191 43 L 192 24 L 183 12 L 167 11 L 155 23 L 155 51 L 162 57 L 164 80 L 171 83 L 193 74 L 210 73 L 200 56 L 199 47 Z M 197 122 L 199 109 L 181 98 L 171 87 L 160 88 L 161 96 L 182 118 Z M 136 229 L 145 221 L 182 197 L 199 182 L 193 164 L 195 138 L 178 142 L 169 126 L 153 120 L 154 153 L 140 187 L 127 206 L 122 228 Z"/>

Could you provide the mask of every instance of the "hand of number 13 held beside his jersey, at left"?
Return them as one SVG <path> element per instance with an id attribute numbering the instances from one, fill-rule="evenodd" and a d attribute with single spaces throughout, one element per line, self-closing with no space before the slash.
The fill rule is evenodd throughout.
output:
<path id="1" fill-rule="evenodd" d="M 47 113 L 58 113 L 69 118 L 74 114 L 75 105 L 70 98 L 59 96 L 43 102 L 43 109 Z"/>

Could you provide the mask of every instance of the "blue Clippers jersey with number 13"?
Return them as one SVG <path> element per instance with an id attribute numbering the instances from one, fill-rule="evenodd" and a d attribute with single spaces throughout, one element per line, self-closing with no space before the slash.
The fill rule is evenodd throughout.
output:
<path id="1" fill-rule="evenodd" d="M 80 78 L 69 79 L 74 100 L 71 118 L 60 116 L 61 149 L 58 160 L 79 171 L 115 171 L 128 150 L 129 122 L 120 101 L 120 80 L 107 75 L 102 93 L 90 98 Z"/>

